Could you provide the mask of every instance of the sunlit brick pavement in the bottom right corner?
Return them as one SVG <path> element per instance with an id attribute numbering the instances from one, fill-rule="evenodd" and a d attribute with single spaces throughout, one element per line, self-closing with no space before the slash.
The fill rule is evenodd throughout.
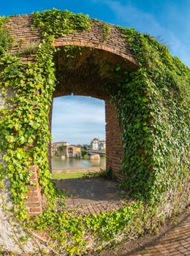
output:
<path id="1" fill-rule="evenodd" d="M 129 253 L 123 252 L 118 255 L 130 256 L 178 256 L 190 255 L 190 214 L 150 245 L 145 246 L 140 251 Z"/>

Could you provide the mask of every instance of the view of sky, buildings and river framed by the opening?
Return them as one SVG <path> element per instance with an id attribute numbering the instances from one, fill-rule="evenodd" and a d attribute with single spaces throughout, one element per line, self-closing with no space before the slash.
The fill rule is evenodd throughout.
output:
<path id="1" fill-rule="evenodd" d="M 52 173 L 104 169 L 104 112 L 104 101 L 92 97 L 65 96 L 53 100 Z"/>

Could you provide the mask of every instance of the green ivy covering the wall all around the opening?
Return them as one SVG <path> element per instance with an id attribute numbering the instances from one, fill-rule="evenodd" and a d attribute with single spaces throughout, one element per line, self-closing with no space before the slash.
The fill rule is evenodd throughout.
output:
<path id="1" fill-rule="evenodd" d="M 1 165 L 0 177 L 1 181 L 9 177 L 14 213 L 23 225 L 46 230 L 58 252 L 81 255 L 86 246 L 100 249 L 121 234 L 137 236 L 153 230 L 167 215 L 167 201 L 171 213 L 180 211 L 189 181 L 189 67 L 150 35 L 120 28 L 140 68 L 126 72 L 116 65 L 112 72 L 118 85 L 114 89 L 109 83 L 106 86 L 123 126 L 122 186 L 132 200 L 126 200 L 118 211 L 76 217 L 56 211 L 57 197 L 64 193 L 57 191 L 50 179 L 48 113 L 56 86 L 54 39 L 90 29 L 91 20 L 69 11 L 34 13 L 33 26 L 40 29 L 42 42 L 37 46 L 36 61 L 27 64 L 12 55 L 12 39 L 3 27 L 6 21 L 0 20 L 0 91 L 5 102 L 0 110 L 0 151 L 6 162 L 5 167 Z M 110 30 L 106 31 L 109 34 Z M 73 47 L 70 50 L 72 54 Z M 28 217 L 24 203 L 30 165 L 37 166 L 47 198 L 46 210 L 34 218 Z"/>

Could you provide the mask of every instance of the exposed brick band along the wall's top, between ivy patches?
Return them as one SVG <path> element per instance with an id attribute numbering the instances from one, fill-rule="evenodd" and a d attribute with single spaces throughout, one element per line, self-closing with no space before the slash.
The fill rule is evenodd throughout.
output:
<path id="1" fill-rule="evenodd" d="M 20 45 L 42 41 L 39 30 L 32 28 L 31 25 L 32 15 L 12 15 L 4 25 L 8 29 L 9 35 L 15 38 L 14 52 L 19 50 Z M 91 19 L 91 29 L 56 38 L 56 47 L 79 45 L 105 50 L 121 56 L 123 59 L 129 61 L 131 67 L 134 69 L 137 68 L 138 65 L 134 53 L 132 53 L 132 50 L 126 44 L 126 39 L 122 37 L 120 29 L 117 26 L 108 24 L 110 26 L 110 34 L 105 41 L 103 25 L 104 22 Z M 31 56 L 23 57 L 23 61 L 30 61 L 31 59 Z"/>

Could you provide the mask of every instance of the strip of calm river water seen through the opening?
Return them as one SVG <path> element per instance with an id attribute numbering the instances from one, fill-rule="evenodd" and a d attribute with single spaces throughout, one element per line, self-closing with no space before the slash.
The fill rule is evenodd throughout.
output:
<path id="1" fill-rule="evenodd" d="M 53 168 L 71 168 L 71 167 L 91 167 L 91 166 L 104 166 L 105 158 L 100 159 L 79 159 L 79 158 L 52 158 Z"/>

